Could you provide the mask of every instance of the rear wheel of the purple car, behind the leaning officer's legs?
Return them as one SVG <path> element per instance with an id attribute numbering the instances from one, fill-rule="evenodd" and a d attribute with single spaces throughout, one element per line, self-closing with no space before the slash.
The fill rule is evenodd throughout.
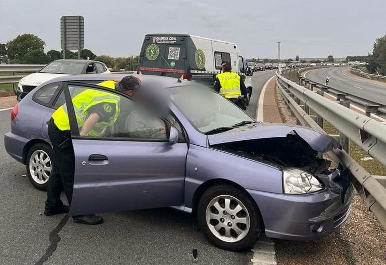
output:
<path id="1" fill-rule="evenodd" d="M 52 148 L 46 143 L 34 144 L 28 151 L 26 160 L 28 179 L 40 191 L 47 191 L 53 157 Z"/>

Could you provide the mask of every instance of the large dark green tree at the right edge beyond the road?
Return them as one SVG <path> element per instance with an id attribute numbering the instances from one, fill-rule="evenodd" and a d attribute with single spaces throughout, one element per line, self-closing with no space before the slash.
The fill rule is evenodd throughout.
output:
<path id="1" fill-rule="evenodd" d="M 375 40 L 367 69 L 370 73 L 386 75 L 386 35 Z"/>

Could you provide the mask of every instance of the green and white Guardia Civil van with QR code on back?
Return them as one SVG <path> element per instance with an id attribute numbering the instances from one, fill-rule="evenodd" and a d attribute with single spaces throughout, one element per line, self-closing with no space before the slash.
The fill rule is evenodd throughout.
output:
<path id="1" fill-rule="evenodd" d="M 252 94 L 253 72 L 235 43 L 189 34 L 147 34 L 139 57 L 138 73 L 175 76 L 213 86 L 221 62 L 228 60 Z"/>

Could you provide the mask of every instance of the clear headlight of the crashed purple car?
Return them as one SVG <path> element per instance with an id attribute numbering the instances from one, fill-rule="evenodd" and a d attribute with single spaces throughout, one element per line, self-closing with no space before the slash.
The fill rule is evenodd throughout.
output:
<path id="1" fill-rule="evenodd" d="M 307 194 L 323 190 L 323 185 L 315 176 L 298 168 L 283 170 L 285 194 Z"/>

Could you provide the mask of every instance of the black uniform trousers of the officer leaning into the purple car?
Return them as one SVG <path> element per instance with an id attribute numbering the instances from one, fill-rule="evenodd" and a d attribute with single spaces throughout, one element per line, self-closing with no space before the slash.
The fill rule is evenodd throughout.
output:
<path id="1" fill-rule="evenodd" d="M 75 158 L 70 131 L 59 130 L 52 118 L 48 123 L 48 136 L 52 143 L 54 161 L 47 185 L 46 209 L 53 209 L 63 204 L 60 200 L 62 191 L 71 204 Z"/>

